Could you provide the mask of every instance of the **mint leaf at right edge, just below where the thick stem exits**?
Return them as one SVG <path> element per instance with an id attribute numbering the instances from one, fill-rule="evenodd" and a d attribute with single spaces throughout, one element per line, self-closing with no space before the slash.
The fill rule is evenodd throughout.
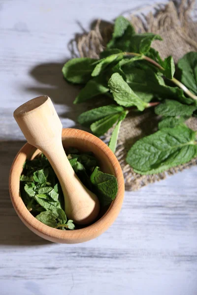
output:
<path id="1" fill-rule="evenodd" d="M 193 112 L 196 110 L 195 106 L 184 105 L 176 100 L 165 99 L 163 103 L 159 104 L 155 108 L 155 114 L 164 117 L 174 117 L 174 116 L 192 116 Z"/>

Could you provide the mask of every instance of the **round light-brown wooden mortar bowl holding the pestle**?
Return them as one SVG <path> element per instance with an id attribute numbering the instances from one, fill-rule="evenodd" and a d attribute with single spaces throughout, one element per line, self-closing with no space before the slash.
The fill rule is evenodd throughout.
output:
<path id="1" fill-rule="evenodd" d="M 9 176 L 10 198 L 16 213 L 23 223 L 38 236 L 56 243 L 81 243 L 105 232 L 115 221 L 122 207 L 125 185 L 120 164 L 114 153 L 98 137 L 78 129 L 64 128 L 62 133 L 64 148 L 75 147 L 80 151 L 92 151 L 99 160 L 102 172 L 114 175 L 118 181 L 118 194 L 106 213 L 95 223 L 78 230 L 62 231 L 38 221 L 28 211 L 19 193 L 20 175 L 26 159 L 33 159 L 40 151 L 25 144 L 16 155 Z"/>

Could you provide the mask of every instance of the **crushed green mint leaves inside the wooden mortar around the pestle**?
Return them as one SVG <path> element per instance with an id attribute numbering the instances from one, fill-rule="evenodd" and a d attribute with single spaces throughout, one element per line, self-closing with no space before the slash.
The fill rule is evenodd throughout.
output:
<path id="1" fill-rule="evenodd" d="M 101 207 L 109 206 L 118 191 L 116 177 L 99 171 L 99 163 L 91 152 L 80 153 L 76 148 L 69 148 L 67 152 L 82 183 L 98 196 Z M 36 219 L 53 228 L 74 230 L 73 221 L 66 218 L 59 180 L 43 154 L 24 163 L 20 192 Z"/>

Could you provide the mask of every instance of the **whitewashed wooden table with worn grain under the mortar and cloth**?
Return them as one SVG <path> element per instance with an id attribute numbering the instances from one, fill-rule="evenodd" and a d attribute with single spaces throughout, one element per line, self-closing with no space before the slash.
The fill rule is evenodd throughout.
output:
<path id="1" fill-rule="evenodd" d="M 197 295 L 197 168 L 126 192 L 112 227 L 62 245 L 29 231 L 9 199 L 8 173 L 24 144 L 14 109 L 49 95 L 75 126 L 77 89 L 61 68 L 67 43 L 96 18 L 112 20 L 153 0 L 0 0 L 0 295 Z"/>

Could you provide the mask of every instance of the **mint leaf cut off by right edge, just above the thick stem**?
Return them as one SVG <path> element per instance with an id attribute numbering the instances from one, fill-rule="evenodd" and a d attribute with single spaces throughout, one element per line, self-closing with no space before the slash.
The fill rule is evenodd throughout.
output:
<path id="1" fill-rule="evenodd" d="M 178 68 L 181 71 L 181 82 L 197 94 L 197 52 L 189 52 L 179 59 Z"/>

